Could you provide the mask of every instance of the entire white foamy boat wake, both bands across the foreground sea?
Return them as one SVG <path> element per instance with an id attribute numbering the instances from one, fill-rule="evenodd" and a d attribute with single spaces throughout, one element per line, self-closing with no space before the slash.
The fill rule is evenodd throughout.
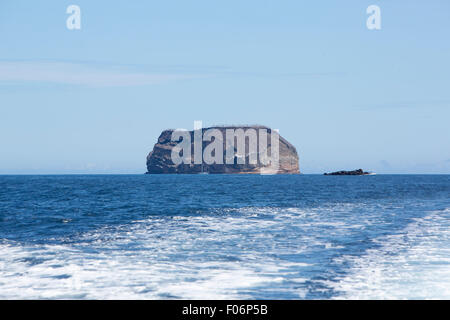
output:
<path id="1" fill-rule="evenodd" d="M 247 207 L 141 219 L 87 232 L 76 243 L 4 242 L 0 298 L 248 299 L 264 292 L 305 298 L 314 284 L 339 298 L 449 298 L 449 209 L 375 239 L 381 246 L 363 256 L 336 258 L 336 265 L 351 262 L 346 277 L 311 279 L 320 266 L 295 255 L 344 249 L 332 240 L 378 223 L 380 208 L 364 206 Z M 361 207 L 363 213 L 352 214 Z"/>

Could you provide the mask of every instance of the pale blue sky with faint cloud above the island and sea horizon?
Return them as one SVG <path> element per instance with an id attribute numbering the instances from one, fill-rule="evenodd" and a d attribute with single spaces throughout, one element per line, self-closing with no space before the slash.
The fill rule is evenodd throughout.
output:
<path id="1" fill-rule="evenodd" d="M 143 173 L 194 120 L 278 128 L 305 173 L 450 173 L 449 36 L 447 0 L 2 0 L 0 174 Z"/>

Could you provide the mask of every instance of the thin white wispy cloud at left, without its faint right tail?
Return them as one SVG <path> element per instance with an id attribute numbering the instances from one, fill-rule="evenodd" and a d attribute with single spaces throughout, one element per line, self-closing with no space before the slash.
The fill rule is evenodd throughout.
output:
<path id="1" fill-rule="evenodd" d="M 176 72 L 139 72 L 114 65 L 0 61 L 0 85 L 55 83 L 89 87 L 146 86 L 204 76 Z"/>

